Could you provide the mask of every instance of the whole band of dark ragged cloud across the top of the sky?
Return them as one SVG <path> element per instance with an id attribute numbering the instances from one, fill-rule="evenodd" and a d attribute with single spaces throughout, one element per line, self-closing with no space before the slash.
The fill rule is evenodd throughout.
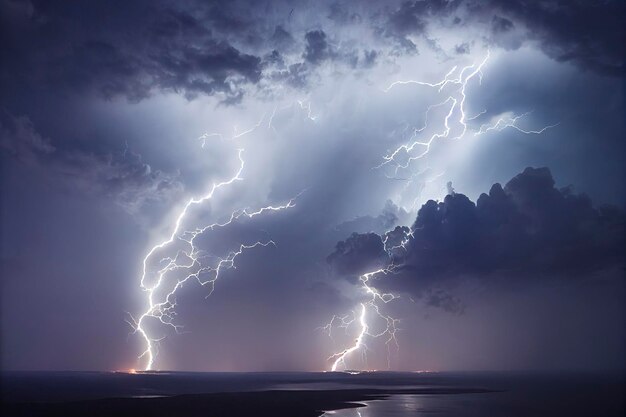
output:
<path id="1" fill-rule="evenodd" d="M 467 53 L 470 28 L 476 42 L 492 47 L 531 42 L 559 61 L 611 75 L 624 69 L 624 4 L 617 0 L 354 0 L 299 7 L 139 1 L 89 11 L 80 2 L 3 0 L 0 7 L 3 88 L 17 82 L 132 101 L 165 91 L 190 99 L 219 94 L 234 103 L 254 86 L 263 90 L 261 80 L 302 87 L 303 74 L 326 61 L 369 68 L 384 57 L 389 64 L 418 52 L 420 42 L 444 55 Z M 458 42 L 446 46 L 437 33 L 442 28 Z M 264 65 L 271 63 L 280 68 Z"/>

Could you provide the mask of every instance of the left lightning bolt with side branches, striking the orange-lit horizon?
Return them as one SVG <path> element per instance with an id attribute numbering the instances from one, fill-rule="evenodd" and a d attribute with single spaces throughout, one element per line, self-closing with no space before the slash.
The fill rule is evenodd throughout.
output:
<path id="1" fill-rule="evenodd" d="M 261 125 L 264 118 L 265 115 L 263 115 L 261 120 L 251 129 L 241 133 L 237 133 L 235 131 L 235 134 L 231 139 L 237 139 L 251 133 Z M 220 134 L 205 134 L 200 138 L 203 141 L 203 147 L 206 144 L 206 140 L 211 137 L 222 138 Z M 225 222 L 216 222 L 192 230 L 181 230 L 192 207 L 199 206 L 202 203 L 211 200 L 215 193 L 219 190 L 226 188 L 235 182 L 243 180 L 241 176 L 245 166 L 243 153 L 243 149 L 238 149 L 237 158 L 239 165 L 236 172 L 224 181 L 213 183 L 206 194 L 200 197 L 190 198 L 176 217 L 169 237 L 154 245 L 143 258 L 140 284 L 141 288 L 147 294 L 148 306 L 137 319 L 129 314 L 130 319 L 127 320 L 127 322 L 132 327 L 133 333 L 139 334 L 143 340 L 145 350 L 139 355 L 138 359 L 141 360 L 142 358 L 145 358 L 145 370 L 147 371 L 153 369 L 154 361 L 158 353 L 159 342 L 164 339 L 164 337 L 156 338 L 151 336 L 150 331 L 148 330 L 148 322 L 156 321 L 157 323 L 168 326 L 177 333 L 180 333 L 182 326 L 176 324 L 175 321 L 176 293 L 185 283 L 190 280 L 195 280 L 203 287 L 208 286 L 209 291 L 207 297 L 209 297 L 215 289 L 215 283 L 219 279 L 220 274 L 224 270 L 236 268 L 235 260 L 244 251 L 257 247 L 275 245 L 272 240 L 257 241 L 252 244 L 242 243 L 238 248 L 231 250 L 225 256 L 219 257 L 202 251 L 196 245 L 196 238 L 216 228 L 223 228 L 233 224 L 242 218 L 250 219 L 259 215 L 292 208 L 295 206 L 295 199 L 301 194 L 298 194 L 298 196 L 290 199 L 282 205 L 265 206 L 253 211 L 250 211 L 249 209 L 237 210 L 232 212 L 229 219 Z M 183 245 L 183 248 L 176 250 L 176 245 Z M 175 254 L 172 256 L 166 256 L 156 261 L 156 259 L 158 259 L 158 253 L 168 249 L 175 250 Z M 154 264 L 155 261 L 158 265 L 158 269 L 156 271 L 152 271 L 150 266 Z M 187 272 L 182 278 L 173 278 L 174 282 L 172 286 L 172 283 L 168 282 L 171 281 L 168 277 L 170 277 L 171 273 L 175 271 Z M 168 285 L 171 288 L 168 288 Z"/>

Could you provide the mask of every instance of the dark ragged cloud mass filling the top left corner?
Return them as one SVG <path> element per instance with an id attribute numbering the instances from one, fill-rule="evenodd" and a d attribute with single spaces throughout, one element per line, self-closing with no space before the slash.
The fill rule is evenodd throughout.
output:
<path id="1" fill-rule="evenodd" d="M 5 27 L 3 89 L 19 82 L 27 88 L 93 90 L 132 101 L 155 90 L 187 98 L 222 93 L 232 99 L 261 77 L 259 57 L 213 35 L 216 22 L 234 24 L 219 9 L 201 20 L 140 2 L 107 9 L 110 26 L 103 28 L 96 21 L 102 18 L 95 15 L 98 7 L 86 12 L 74 6 L 36 4 L 21 25 Z"/>

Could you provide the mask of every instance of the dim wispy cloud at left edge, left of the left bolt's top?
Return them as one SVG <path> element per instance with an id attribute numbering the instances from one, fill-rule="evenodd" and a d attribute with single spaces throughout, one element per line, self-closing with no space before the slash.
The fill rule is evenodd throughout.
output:
<path id="1" fill-rule="evenodd" d="M 3 113 L 0 149 L 16 161 L 44 170 L 48 178 L 56 177 L 85 192 L 113 198 L 131 214 L 146 203 L 169 201 L 183 188 L 178 173 L 154 170 L 141 155 L 128 150 L 98 154 L 58 149 L 35 130 L 27 117 Z"/>

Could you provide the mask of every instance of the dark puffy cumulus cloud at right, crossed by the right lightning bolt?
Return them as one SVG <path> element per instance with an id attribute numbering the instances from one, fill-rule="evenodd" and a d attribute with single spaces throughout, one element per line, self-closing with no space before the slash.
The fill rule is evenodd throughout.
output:
<path id="1" fill-rule="evenodd" d="M 328 261 L 339 274 L 360 274 L 387 255 L 393 273 L 380 274 L 377 285 L 417 296 L 461 277 L 571 279 L 623 267 L 624 219 L 620 209 L 594 208 L 587 196 L 555 188 L 547 168 L 526 168 L 476 203 L 454 192 L 441 202 L 429 200 L 410 230 L 354 234 Z M 391 251 L 391 243 L 382 250 L 383 241 L 399 237 L 408 239 L 404 248 Z M 453 305 L 448 296 L 429 296 Z"/>

